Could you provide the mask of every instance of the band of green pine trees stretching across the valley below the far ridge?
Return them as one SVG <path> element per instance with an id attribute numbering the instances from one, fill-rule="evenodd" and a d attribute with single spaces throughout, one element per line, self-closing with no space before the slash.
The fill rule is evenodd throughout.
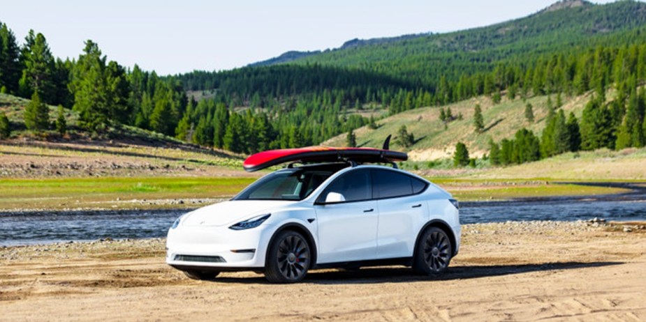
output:
<path id="1" fill-rule="evenodd" d="M 641 39 L 640 35 L 642 31 L 635 29 L 612 37 L 620 43 L 619 40 Z M 594 90 L 596 99 L 580 120 L 579 148 L 644 144 L 645 135 L 640 130 L 644 128 L 643 93 L 638 91 L 640 82 L 646 79 L 643 41 L 542 54 L 527 61 L 498 63 L 485 71 L 473 69 L 469 72 L 458 68 L 456 72 L 437 75 L 436 83 L 406 79 L 386 70 L 317 63 L 159 77 L 136 65 L 124 68 L 108 61 L 91 40 L 87 40 L 77 59 L 54 59 L 41 33 L 30 31 L 24 45 L 18 46 L 13 32 L 0 24 L 0 91 L 74 109 L 80 115 L 80 125 L 96 132 L 109 126 L 134 125 L 203 146 L 252 153 L 319 144 L 362 125 L 374 125 L 374 119 L 353 113 L 361 109 L 388 108 L 390 114 L 395 114 L 477 95 L 490 95 L 494 102 L 499 102 L 502 95 L 514 99 L 551 94 L 560 100 L 561 94 L 579 95 Z M 605 93 L 612 84 L 617 97 L 606 102 Z M 214 96 L 199 102 L 186 95 L 186 90 L 212 89 Z M 42 115 L 29 114 L 45 112 L 48 109 L 29 109 L 25 118 L 43 119 Z M 450 109 L 442 112 L 445 122 L 455 118 Z M 533 118 L 531 107 L 525 113 Z M 560 129 L 561 116 L 554 114 L 552 118 L 558 124 L 548 124 L 548 128 Z M 569 120 L 570 117 L 564 123 L 567 125 Z M 25 123 L 36 130 L 43 127 L 38 122 Z M 40 125 L 34 125 L 37 123 Z M 481 114 L 475 124 L 479 132 L 483 131 Z M 513 140 L 533 141 L 528 133 L 518 135 Z M 548 143 L 554 141 L 550 137 L 541 135 L 542 141 Z M 413 140 L 405 143 L 408 141 Z M 559 141 L 553 148 L 539 146 L 538 151 L 541 157 L 548 157 L 564 148 Z M 510 162 L 534 158 L 526 155 L 535 153 L 517 151 L 517 155 L 520 159 L 511 158 Z"/>

